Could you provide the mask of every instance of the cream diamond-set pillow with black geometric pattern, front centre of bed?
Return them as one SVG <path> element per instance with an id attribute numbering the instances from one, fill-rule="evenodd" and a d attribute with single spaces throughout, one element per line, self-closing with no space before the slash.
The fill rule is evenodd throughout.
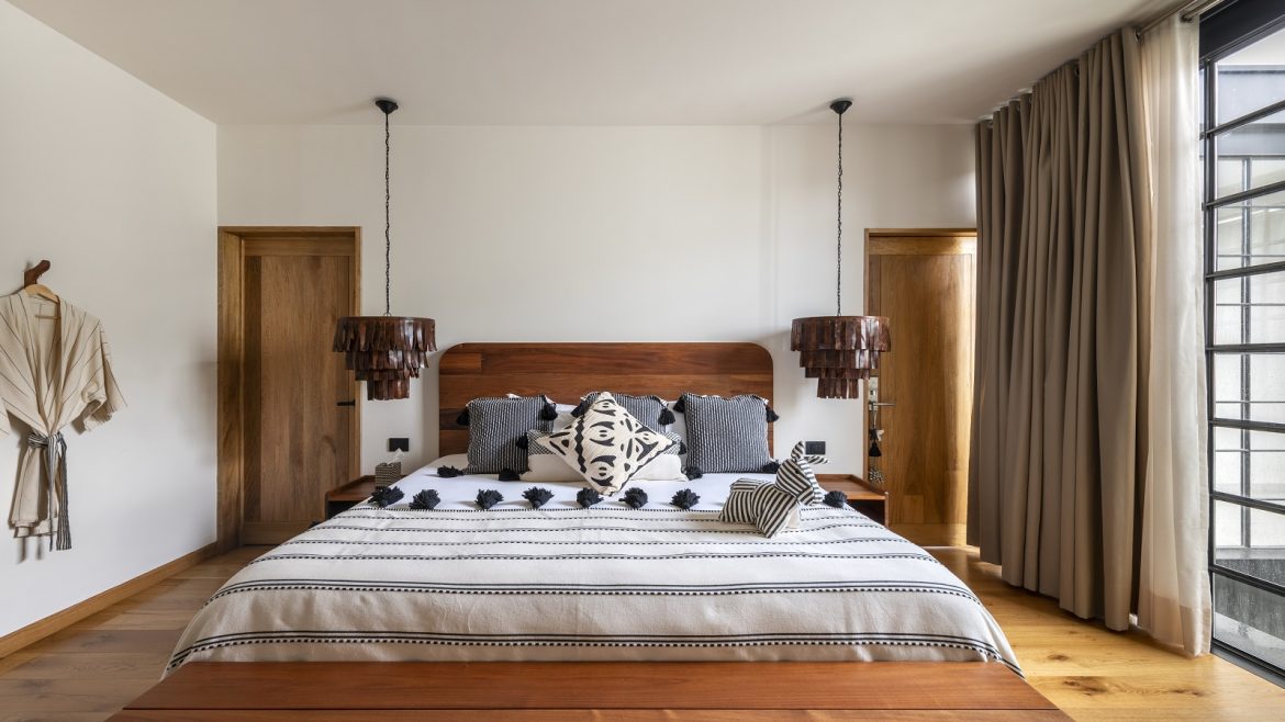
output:
<path id="1" fill-rule="evenodd" d="M 538 443 L 608 496 L 625 488 L 648 461 L 678 446 L 648 429 L 605 392 L 571 427 Z"/>

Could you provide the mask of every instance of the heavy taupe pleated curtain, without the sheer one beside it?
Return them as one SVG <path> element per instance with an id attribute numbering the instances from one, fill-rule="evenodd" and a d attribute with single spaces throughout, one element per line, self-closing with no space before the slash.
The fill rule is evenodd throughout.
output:
<path id="1" fill-rule="evenodd" d="M 1140 75 L 1137 39 L 1122 31 L 977 134 L 969 542 L 1007 582 L 1113 630 L 1135 608 L 1146 466 Z"/>

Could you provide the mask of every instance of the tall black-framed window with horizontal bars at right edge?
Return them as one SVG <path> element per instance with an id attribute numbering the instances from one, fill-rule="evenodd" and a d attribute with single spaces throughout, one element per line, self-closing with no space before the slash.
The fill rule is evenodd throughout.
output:
<path id="1" fill-rule="evenodd" d="M 1200 23 L 1216 649 L 1285 673 L 1285 4 Z"/>

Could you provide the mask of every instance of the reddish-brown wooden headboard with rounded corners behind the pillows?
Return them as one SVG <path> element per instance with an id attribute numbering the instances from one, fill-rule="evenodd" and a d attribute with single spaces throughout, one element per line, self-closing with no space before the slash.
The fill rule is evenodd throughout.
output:
<path id="1" fill-rule="evenodd" d="M 753 343 L 461 343 L 438 371 L 438 446 L 464 453 L 469 430 L 455 423 L 464 406 L 487 396 L 542 393 L 578 403 L 591 391 L 673 400 L 680 393 L 772 397 L 772 357 Z M 767 432 L 771 450 L 772 432 Z"/>

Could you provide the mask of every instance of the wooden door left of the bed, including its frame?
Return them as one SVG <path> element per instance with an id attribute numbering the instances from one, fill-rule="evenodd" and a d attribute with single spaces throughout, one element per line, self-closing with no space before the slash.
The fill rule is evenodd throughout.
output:
<path id="1" fill-rule="evenodd" d="M 359 239 L 356 229 L 224 229 L 221 243 L 220 306 L 236 312 L 221 312 L 220 346 L 231 335 L 238 348 L 220 356 L 221 387 L 236 385 L 220 389 L 220 415 L 227 394 L 239 429 L 236 459 L 221 448 L 220 542 L 280 543 L 325 518 L 325 492 L 360 475 L 357 407 L 341 405 L 357 387 L 330 349 L 335 320 L 357 312 Z M 224 478 L 225 461 L 235 478 Z"/>

